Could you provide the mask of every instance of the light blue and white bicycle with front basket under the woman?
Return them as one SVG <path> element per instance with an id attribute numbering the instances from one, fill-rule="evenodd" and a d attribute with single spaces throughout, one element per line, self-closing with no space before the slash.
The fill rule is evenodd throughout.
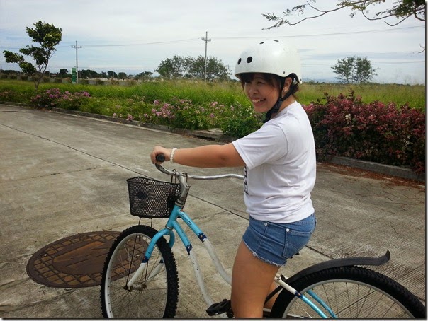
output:
<path id="1" fill-rule="evenodd" d="M 158 158 L 158 161 L 163 160 Z M 198 286 L 208 306 L 208 315 L 233 317 L 230 300 L 215 303 L 206 290 L 196 254 L 178 219 L 181 218 L 203 242 L 217 272 L 231 284 L 231 277 L 225 272 L 208 237 L 182 209 L 190 189 L 188 178 L 213 180 L 243 178 L 242 175 L 196 176 L 167 170 L 161 165 L 156 167 L 170 175 L 171 182 L 145 177 L 129 179 L 130 211 L 140 220 L 168 218 L 168 221 L 159 231 L 139 222 L 139 225 L 124 230 L 115 240 L 106 257 L 101 279 L 103 317 L 152 319 L 175 316 L 179 280 L 171 250 L 175 243 L 174 231 L 191 259 Z M 165 237 L 169 237 L 168 242 Z M 377 258 L 332 259 L 312 265 L 289 278 L 276 274 L 274 281 L 278 287 L 267 296 L 266 302 L 279 294 L 269 317 L 425 317 L 424 305 L 410 291 L 388 276 L 359 267 L 381 265 L 389 259 L 390 252 L 387 251 Z"/>

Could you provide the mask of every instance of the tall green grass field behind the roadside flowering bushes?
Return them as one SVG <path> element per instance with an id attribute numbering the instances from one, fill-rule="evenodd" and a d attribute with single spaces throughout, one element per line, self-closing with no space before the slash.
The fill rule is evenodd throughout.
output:
<path id="1" fill-rule="evenodd" d="M 72 85 L 69 83 L 40 83 L 39 90 L 60 88 L 60 91 L 87 91 L 93 98 L 98 98 L 101 105 L 123 105 L 128 99 L 144 100 L 152 103 L 154 100 L 169 102 L 171 98 L 191 100 L 194 104 L 217 101 L 223 105 L 249 105 L 240 83 L 203 83 L 201 81 L 152 81 L 139 83 L 135 86 L 113 85 Z M 352 89 L 355 95 L 360 95 L 364 103 L 379 100 L 383 103 L 393 102 L 396 105 L 409 103 L 410 107 L 425 109 L 425 87 L 397 84 L 365 84 L 341 85 L 337 83 L 303 83 L 298 91 L 298 101 L 308 105 L 312 101 L 321 100 L 324 93 L 337 96 L 347 95 Z M 0 80 L 0 93 L 12 90 L 13 100 L 29 103 L 35 93 L 33 82 Z"/>

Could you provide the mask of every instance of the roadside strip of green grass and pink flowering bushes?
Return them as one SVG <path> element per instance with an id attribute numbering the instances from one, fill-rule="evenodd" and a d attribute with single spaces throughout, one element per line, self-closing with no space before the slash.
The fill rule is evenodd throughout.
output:
<path id="1" fill-rule="evenodd" d="M 146 81 L 131 86 L 0 80 L 0 102 L 63 108 L 172 128 L 220 128 L 240 137 L 262 124 L 236 81 Z M 347 156 L 425 171 L 424 86 L 304 83 L 320 161 Z"/>

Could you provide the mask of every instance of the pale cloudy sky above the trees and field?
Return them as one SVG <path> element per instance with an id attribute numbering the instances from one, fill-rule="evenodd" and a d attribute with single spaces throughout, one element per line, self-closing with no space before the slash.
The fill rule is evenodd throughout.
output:
<path id="1" fill-rule="evenodd" d="M 388 8 L 396 0 L 372 6 L 370 13 Z M 263 30 L 271 22 L 262 13 L 280 16 L 305 0 L 0 0 L 0 51 L 18 52 L 32 45 L 26 27 L 37 21 L 62 28 L 62 41 L 47 69 L 57 72 L 154 72 L 174 55 L 219 59 L 230 69 L 247 47 L 266 39 L 286 40 L 302 59 L 303 81 L 334 81 L 332 66 L 339 59 L 357 56 L 371 61 L 377 83 L 424 84 L 425 24 L 415 18 L 390 27 L 368 21 L 342 9 L 298 25 Z M 320 9 L 334 8 L 336 0 L 317 0 Z M 291 21 L 302 18 L 296 13 Z M 389 23 L 396 23 L 389 18 Z M 208 37 L 206 37 L 208 33 Z M 205 42 L 204 39 L 210 41 Z M 77 59 L 75 46 L 77 42 Z M 0 54 L 0 69 L 19 70 Z"/>

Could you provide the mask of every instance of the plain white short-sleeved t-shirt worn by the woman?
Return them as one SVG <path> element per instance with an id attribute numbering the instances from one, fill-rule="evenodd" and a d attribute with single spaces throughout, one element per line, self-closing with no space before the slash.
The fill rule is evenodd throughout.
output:
<path id="1" fill-rule="evenodd" d="M 315 142 L 300 103 L 288 105 L 232 144 L 246 164 L 244 202 L 249 215 L 291 223 L 314 213 L 310 193 L 316 175 Z"/>

